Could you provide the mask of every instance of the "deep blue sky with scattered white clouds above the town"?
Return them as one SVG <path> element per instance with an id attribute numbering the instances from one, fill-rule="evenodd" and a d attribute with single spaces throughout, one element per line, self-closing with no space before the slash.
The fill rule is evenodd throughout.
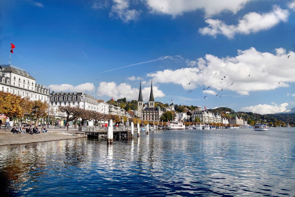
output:
<path id="1" fill-rule="evenodd" d="M 137 100 L 141 76 L 144 101 L 152 78 L 162 103 L 295 106 L 295 1 L 3 0 L 0 12 L 1 64 L 12 42 L 11 64 L 54 91 Z"/>

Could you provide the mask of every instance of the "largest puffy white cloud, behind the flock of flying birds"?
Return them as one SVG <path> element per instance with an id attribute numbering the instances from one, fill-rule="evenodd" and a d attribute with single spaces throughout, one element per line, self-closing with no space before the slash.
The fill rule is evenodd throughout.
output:
<path id="1" fill-rule="evenodd" d="M 210 86 L 210 89 L 218 92 L 223 89 L 248 95 L 250 91 L 274 90 L 288 87 L 288 82 L 295 82 L 295 62 L 288 61 L 288 55 L 295 56 L 295 53 L 278 48 L 272 54 L 251 47 L 238 50 L 236 57 L 219 58 L 206 54 L 198 59 L 195 67 L 159 70 L 147 76 L 152 77 L 155 83 L 179 84 L 185 90 Z M 191 84 L 187 85 L 190 81 Z M 230 86 L 232 82 L 234 84 Z"/>

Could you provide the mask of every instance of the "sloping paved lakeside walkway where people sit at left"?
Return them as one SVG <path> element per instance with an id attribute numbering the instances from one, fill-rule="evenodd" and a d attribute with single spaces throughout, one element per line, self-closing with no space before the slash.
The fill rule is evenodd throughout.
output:
<path id="1" fill-rule="evenodd" d="M 27 144 L 35 142 L 48 142 L 64 139 L 76 139 L 83 136 L 66 135 L 63 132 L 50 131 L 48 133 L 40 134 L 13 134 L 8 129 L 0 129 L 0 146 L 13 145 L 13 144 Z"/>

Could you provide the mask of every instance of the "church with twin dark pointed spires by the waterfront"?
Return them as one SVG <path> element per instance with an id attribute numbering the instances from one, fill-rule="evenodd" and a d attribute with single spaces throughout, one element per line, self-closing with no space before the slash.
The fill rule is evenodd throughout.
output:
<path id="1" fill-rule="evenodd" d="M 154 93 L 153 93 L 153 82 L 151 82 L 151 93 L 150 98 L 148 99 L 148 105 L 144 105 L 144 101 L 142 99 L 141 92 L 141 80 L 140 80 L 140 88 L 139 95 L 137 100 L 137 116 L 141 118 L 141 120 L 146 120 L 148 122 L 159 122 L 160 117 L 163 115 L 163 110 L 158 106 L 155 107 Z"/>

